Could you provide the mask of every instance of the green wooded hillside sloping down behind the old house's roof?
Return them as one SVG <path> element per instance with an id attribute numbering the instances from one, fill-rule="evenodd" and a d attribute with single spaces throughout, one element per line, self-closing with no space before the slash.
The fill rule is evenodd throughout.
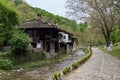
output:
<path id="1" fill-rule="evenodd" d="M 78 38 L 78 41 L 82 42 L 81 41 L 83 40 L 81 39 L 83 36 L 82 34 L 87 28 L 87 23 L 77 24 L 75 20 L 70 20 L 68 18 L 54 15 L 43 9 L 32 7 L 23 0 L 7 0 L 7 1 L 19 13 L 20 25 L 23 22 L 37 18 L 37 14 L 41 14 L 42 20 L 49 22 L 53 25 L 57 25 L 61 29 L 73 33 Z"/>

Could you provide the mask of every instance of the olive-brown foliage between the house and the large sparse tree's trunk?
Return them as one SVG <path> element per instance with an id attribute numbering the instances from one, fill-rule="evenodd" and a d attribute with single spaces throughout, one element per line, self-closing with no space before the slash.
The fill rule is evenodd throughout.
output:
<path id="1" fill-rule="evenodd" d="M 86 30 L 82 32 L 81 36 L 81 41 L 85 43 L 85 45 L 89 45 L 88 42 L 91 42 L 92 46 L 98 46 L 105 43 L 103 36 L 98 28 L 87 27 Z"/>

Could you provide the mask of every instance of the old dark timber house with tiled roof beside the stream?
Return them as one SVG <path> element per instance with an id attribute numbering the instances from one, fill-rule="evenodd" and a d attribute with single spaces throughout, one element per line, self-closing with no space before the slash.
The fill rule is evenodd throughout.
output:
<path id="1" fill-rule="evenodd" d="M 73 34 L 41 19 L 25 22 L 20 29 L 29 35 L 30 46 L 35 51 L 43 51 L 48 58 L 76 50 Z"/>

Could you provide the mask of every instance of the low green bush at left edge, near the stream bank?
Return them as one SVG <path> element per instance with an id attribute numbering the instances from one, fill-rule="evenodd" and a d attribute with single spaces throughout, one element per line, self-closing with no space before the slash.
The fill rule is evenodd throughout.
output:
<path id="1" fill-rule="evenodd" d="M 6 60 L 0 59 L 0 69 L 11 70 L 12 69 L 12 62 L 8 59 L 6 59 Z"/>

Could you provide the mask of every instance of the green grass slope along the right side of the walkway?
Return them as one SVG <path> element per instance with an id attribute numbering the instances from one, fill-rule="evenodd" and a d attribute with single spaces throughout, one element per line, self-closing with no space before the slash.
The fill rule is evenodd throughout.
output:
<path id="1" fill-rule="evenodd" d="M 103 51 L 109 53 L 110 55 L 120 59 L 120 45 L 113 46 L 112 51 L 107 51 L 105 48 L 101 48 Z"/>

